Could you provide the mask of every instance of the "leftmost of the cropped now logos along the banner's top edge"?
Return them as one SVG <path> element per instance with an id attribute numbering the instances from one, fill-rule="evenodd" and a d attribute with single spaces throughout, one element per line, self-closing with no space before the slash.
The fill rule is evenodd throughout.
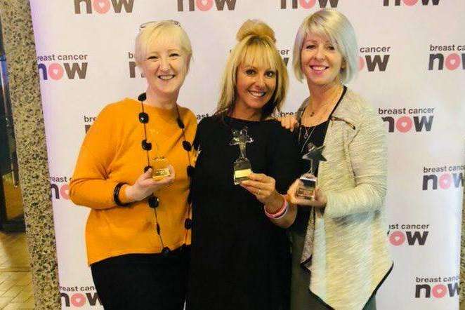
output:
<path id="1" fill-rule="evenodd" d="M 126 13 L 132 13 L 133 6 L 134 0 L 74 0 L 74 13 L 81 14 L 85 11 L 87 14 L 105 14 L 111 8 L 114 13 L 122 13 L 123 8 Z"/>

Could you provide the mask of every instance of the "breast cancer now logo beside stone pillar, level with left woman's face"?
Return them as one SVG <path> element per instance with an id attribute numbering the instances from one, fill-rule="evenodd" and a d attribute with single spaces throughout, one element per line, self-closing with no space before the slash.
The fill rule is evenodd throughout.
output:
<path id="1" fill-rule="evenodd" d="M 46 81 L 61 79 L 86 79 L 89 55 L 87 54 L 66 54 L 66 55 L 41 55 L 37 57 L 39 61 L 39 76 Z"/>

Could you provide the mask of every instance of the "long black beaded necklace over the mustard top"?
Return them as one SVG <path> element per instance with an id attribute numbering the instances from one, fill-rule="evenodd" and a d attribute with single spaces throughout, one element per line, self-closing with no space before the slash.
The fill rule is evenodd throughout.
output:
<path id="1" fill-rule="evenodd" d="M 152 149 L 152 143 L 148 142 L 147 140 L 147 124 L 148 124 L 149 119 L 148 119 L 148 114 L 145 113 L 144 104 L 143 104 L 143 101 L 147 100 L 147 95 L 145 93 L 142 93 L 139 95 L 137 99 L 140 102 L 140 107 L 142 108 L 142 112 L 139 113 L 139 121 L 144 126 L 144 139 L 142 140 L 142 149 L 144 149 L 147 154 L 147 166 L 144 167 L 144 173 L 145 173 L 147 172 L 148 169 L 152 168 L 150 166 L 150 156 L 149 156 L 149 151 Z M 183 149 L 185 149 L 186 153 L 188 154 L 189 165 L 187 167 L 187 173 L 188 173 L 188 177 L 190 177 L 190 179 L 192 180 L 192 173 L 193 173 L 194 167 L 192 167 L 192 164 L 190 162 L 190 153 L 189 153 L 189 151 L 192 150 L 192 144 L 188 142 L 187 140 L 185 140 L 185 131 L 184 131 L 185 126 L 184 126 L 183 121 L 181 120 L 181 114 L 179 114 L 178 105 L 176 105 L 176 112 L 178 112 L 176 123 L 178 123 L 178 127 L 181 128 L 181 130 L 183 130 Z M 183 246 L 186 245 L 185 241 L 188 238 L 188 230 L 192 228 L 192 220 L 189 217 L 190 216 L 190 200 L 191 198 L 190 198 L 190 193 L 189 193 L 188 210 L 187 210 L 187 214 L 185 215 L 185 221 L 184 221 L 185 237 L 184 237 Z M 171 252 L 171 249 L 164 245 L 163 238 L 162 238 L 162 229 L 160 229 L 158 215 L 157 215 L 157 207 L 159 205 L 159 198 L 155 196 L 154 194 L 151 194 L 150 196 L 148 196 L 148 205 L 155 212 L 155 230 L 157 231 L 157 234 L 160 239 L 160 243 L 162 244 L 162 248 L 163 248 L 162 254 L 166 256 L 169 254 L 169 252 Z"/>

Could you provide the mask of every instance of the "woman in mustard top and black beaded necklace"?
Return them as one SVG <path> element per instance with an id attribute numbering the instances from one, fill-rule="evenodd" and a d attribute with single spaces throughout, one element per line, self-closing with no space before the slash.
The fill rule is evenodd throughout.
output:
<path id="1" fill-rule="evenodd" d="M 91 208 L 87 256 L 105 309 L 183 309 L 197 121 L 177 99 L 191 55 L 178 22 L 141 25 L 135 57 L 147 91 L 107 105 L 81 146 L 70 198 Z M 153 159 L 169 162 L 162 180 Z"/>

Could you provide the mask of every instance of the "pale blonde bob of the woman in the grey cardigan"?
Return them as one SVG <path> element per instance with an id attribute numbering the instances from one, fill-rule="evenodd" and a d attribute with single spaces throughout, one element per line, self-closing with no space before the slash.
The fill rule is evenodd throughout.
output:
<path id="1" fill-rule="evenodd" d="M 329 8 L 324 8 L 306 17 L 297 30 L 294 50 L 292 50 L 292 67 L 299 81 L 302 72 L 301 50 L 307 34 L 325 36 L 341 53 L 345 66 L 341 68 L 342 83 L 350 82 L 358 73 L 358 46 L 355 31 L 345 15 Z"/>

